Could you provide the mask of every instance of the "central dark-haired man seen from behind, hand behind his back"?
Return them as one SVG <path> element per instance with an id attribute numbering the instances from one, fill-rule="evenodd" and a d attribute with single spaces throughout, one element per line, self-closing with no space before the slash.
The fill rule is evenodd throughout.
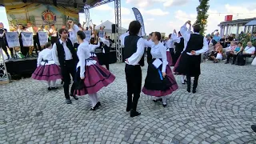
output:
<path id="1" fill-rule="evenodd" d="M 144 39 L 138 37 L 141 24 L 138 21 L 130 22 L 129 34 L 125 38 L 124 58 L 126 59 L 127 106 L 130 117 L 140 115 L 137 111 L 138 98 L 142 90 L 142 69 L 144 65 Z M 134 97 L 133 97 L 134 94 Z"/>

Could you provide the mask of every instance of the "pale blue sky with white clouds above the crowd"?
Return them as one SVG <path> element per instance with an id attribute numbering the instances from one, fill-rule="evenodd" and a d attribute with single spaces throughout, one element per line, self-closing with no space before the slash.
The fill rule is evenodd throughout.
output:
<path id="1" fill-rule="evenodd" d="M 195 22 L 198 0 L 121 0 L 122 27 L 128 28 L 135 20 L 132 7 L 142 13 L 146 34 L 153 31 L 173 33 L 190 20 Z M 226 15 L 233 15 L 233 19 L 255 18 L 256 2 L 254 0 L 210 0 L 209 18 L 206 34 L 219 29 L 218 24 L 225 20 Z M 114 21 L 114 2 L 90 9 L 90 17 L 96 25 L 110 20 Z M 80 14 L 80 22 L 85 21 L 85 14 Z"/>

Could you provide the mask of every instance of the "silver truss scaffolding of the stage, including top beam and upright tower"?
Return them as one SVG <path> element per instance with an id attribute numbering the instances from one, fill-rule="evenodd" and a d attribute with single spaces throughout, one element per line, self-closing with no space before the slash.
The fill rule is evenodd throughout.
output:
<path id="1" fill-rule="evenodd" d="M 122 34 L 122 21 L 121 21 L 121 0 L 103 0 L 102 2 L 97 2 L 95 5 L 86 5 L 84 8 L 86 16 L 86 27 L 90 26 L 90 9 L 96 6 L 101 6 L 109 2 L 114 2 L 114 16 L 115 16 L 115 34 L 114 43 L 116 48 L 117 62 L 122 62 L 122 46 L 119 42 L 119 37 Z"/>

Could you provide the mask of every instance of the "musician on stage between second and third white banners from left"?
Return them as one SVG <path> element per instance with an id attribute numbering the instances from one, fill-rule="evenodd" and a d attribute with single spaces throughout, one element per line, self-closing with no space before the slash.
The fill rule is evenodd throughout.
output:
<path id="1" fill-rule="evenodd" d="M 32 27 L 32 24 L 30 22 L 28 22 L 26 26 L 27 26 L 26 30 L 30 33 L 33 33 L 34 49 L 35 49 L 35 53 L 38 55 L 38 50 L 41 51 L 41 46 L 38 38 L 37 27 Z"/>

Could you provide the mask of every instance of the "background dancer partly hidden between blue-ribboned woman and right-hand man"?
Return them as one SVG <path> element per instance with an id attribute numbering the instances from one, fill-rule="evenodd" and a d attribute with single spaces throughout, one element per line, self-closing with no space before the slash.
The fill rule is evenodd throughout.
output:
<path id="1" fill-rule="evenodd" d="M 171 34 L 169 34 L 169 39 L 166 42 L 166 55 L 168 66 L 174 66 L 174 42 L 171 39 Z"/>

